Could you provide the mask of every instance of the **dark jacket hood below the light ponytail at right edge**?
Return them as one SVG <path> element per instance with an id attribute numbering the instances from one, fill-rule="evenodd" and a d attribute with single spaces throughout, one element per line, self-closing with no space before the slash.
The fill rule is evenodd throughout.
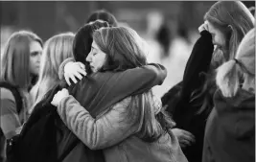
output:
<path id="1" fill-rule="evenodd" d="M 246 138 L 255 131 L 255 94 L 239 89 L 236 96 L 226 98 L 218 89 L 214 104 L 221 127 L 236 138 Z"/>

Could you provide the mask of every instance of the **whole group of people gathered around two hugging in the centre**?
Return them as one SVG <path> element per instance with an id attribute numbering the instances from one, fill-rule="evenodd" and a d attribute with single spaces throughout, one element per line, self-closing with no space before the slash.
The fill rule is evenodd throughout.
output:
<path id="1" fill-rule="evenodd" d="M 161 99 L 151 88 L 175 72 L 148 62 L 145 40 L 109 12 L 45 43 L 32 32 L 12 34 L 1 60 L 2 160 L 6 140 L 65 82 L 51 104 L 79 143 L 63 162 L 254 161 L 254 21 L 240 1 L 215 3 L 183 80 Z"/>

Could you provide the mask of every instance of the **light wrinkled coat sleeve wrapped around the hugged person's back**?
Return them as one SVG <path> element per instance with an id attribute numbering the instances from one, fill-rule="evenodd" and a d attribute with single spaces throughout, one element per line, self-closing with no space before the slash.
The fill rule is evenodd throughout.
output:
<path id="1" fill-rule="evenodd" d="M 61 100 L 58 114 L 81 141 L 91 150 L 100 150 L 113 146 L 136 131 L 126 118 L 130 98 L 115 104 L 113 108 L 97 119 L 72 96 Z"/>

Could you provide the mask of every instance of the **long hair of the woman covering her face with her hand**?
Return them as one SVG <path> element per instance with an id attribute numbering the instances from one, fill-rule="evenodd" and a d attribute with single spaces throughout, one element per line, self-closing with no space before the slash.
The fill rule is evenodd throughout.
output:
<path id="1" fill-rule="evenodd" d="M 200 74 L 204 84 L 192 94 L 191 102 L 200 106 L 198 113 L 209 113 L 213 107 L 213 94 L 217 88 L 216 69 L 225 61 L 235 57 L 238 46 L 253 27 L 255 18 L 240 1 L 219 1 L 215 3 L 204 19 L 212 23 L 225 36 L 226 54 L 216 48 L 207 74 Z"/>

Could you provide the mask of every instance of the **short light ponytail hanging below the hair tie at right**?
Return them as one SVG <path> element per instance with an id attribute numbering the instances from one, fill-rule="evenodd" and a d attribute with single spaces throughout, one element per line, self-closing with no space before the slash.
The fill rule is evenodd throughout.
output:
<path id="1" fill-rule="evenodd" d="M 218 68 L 216 83 L 224 97 L 233 97 L 239 88 L 240 67 L 236 61 L 229 60 Z"/>

